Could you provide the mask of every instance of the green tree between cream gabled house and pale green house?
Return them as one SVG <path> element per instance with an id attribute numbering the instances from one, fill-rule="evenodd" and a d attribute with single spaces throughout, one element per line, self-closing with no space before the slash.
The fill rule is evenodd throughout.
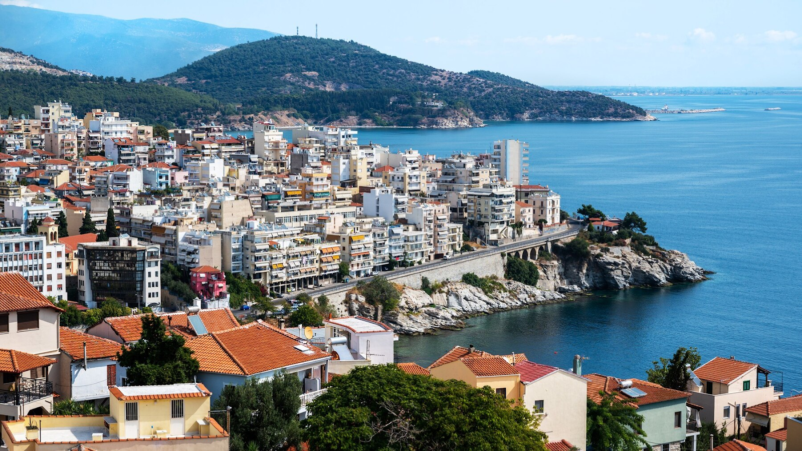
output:
<path id="1" fill-rule="evenodd" d="M 649 445 L 641 425 L 643 416 L 630 404 L 624 404 L 616 393 L 599 392 L 602 399 L 596 403 L 588 398 L 589 449 L 606 451 L 642 451 Z"/>

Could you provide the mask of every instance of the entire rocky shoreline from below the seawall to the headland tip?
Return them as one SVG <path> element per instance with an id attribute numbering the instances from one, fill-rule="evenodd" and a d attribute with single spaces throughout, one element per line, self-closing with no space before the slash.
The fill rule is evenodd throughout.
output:
<path id="1" fill-rule="evenodd" d="M 476 315 L 565 302 L 593 290 L 700 282 L 709 274 L 677 250 L 652 250 L 646 256 L 628 246 L 593 248 L 588 258 L 541 260 L 537 265 L 537 286 L 499 280 L 503 288 L 486 294 L 476 286 L 447 282 L 431 295 L 404 286 L 394 311 L 379 312 L 359 295 L 350 295 L 344 307 L 349 315 L 381 319 L 399 334 L 431 334 L 465 327 L 464 320 Z"/>

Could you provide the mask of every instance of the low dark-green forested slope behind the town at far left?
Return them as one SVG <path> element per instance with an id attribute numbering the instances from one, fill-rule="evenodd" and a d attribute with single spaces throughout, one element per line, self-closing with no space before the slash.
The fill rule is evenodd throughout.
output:
<path id="1" fill-rule="evenodd" d="M 0 71 L 0 112 L 32 115 L 34 105 L 63 100 L 76 114 L 105 108 L 145 124 L 205 120 L 217 114 L 220 102 L 154 83 L 132 83 L 122 78 L 51 75 L 35 71 Z"/>

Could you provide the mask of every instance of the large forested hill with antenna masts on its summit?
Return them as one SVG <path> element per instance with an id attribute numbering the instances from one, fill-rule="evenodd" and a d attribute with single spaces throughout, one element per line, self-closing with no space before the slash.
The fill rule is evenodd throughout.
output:
<path id="1" fill-rule="evenodd" d="M 549 91 L 489 71 L 444 71 L 353 41 L 303 36 L 229 47 L 152 81 L 241 105 L 246 114 L 293 108 L 314 120 L 384 115 L 414 124 L 449 108 L 488 120 L 646 116 L 642 108 L 586 91 Z M 445 108 L 425 108 L 427 100 Z"/>

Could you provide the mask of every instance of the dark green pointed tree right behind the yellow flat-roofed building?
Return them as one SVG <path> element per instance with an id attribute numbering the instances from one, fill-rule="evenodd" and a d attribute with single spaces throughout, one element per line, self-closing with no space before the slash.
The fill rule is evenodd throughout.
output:
<path id="1" fill-rule="evenodd" d="M 144 315 L 142 339 L 117 354 L 119 364 L 128 368 L 128 382 L 132 385 L 191 382 L 201 366 L 184 342 L 181 335 L 168 333 L 156 315 Z"/>

